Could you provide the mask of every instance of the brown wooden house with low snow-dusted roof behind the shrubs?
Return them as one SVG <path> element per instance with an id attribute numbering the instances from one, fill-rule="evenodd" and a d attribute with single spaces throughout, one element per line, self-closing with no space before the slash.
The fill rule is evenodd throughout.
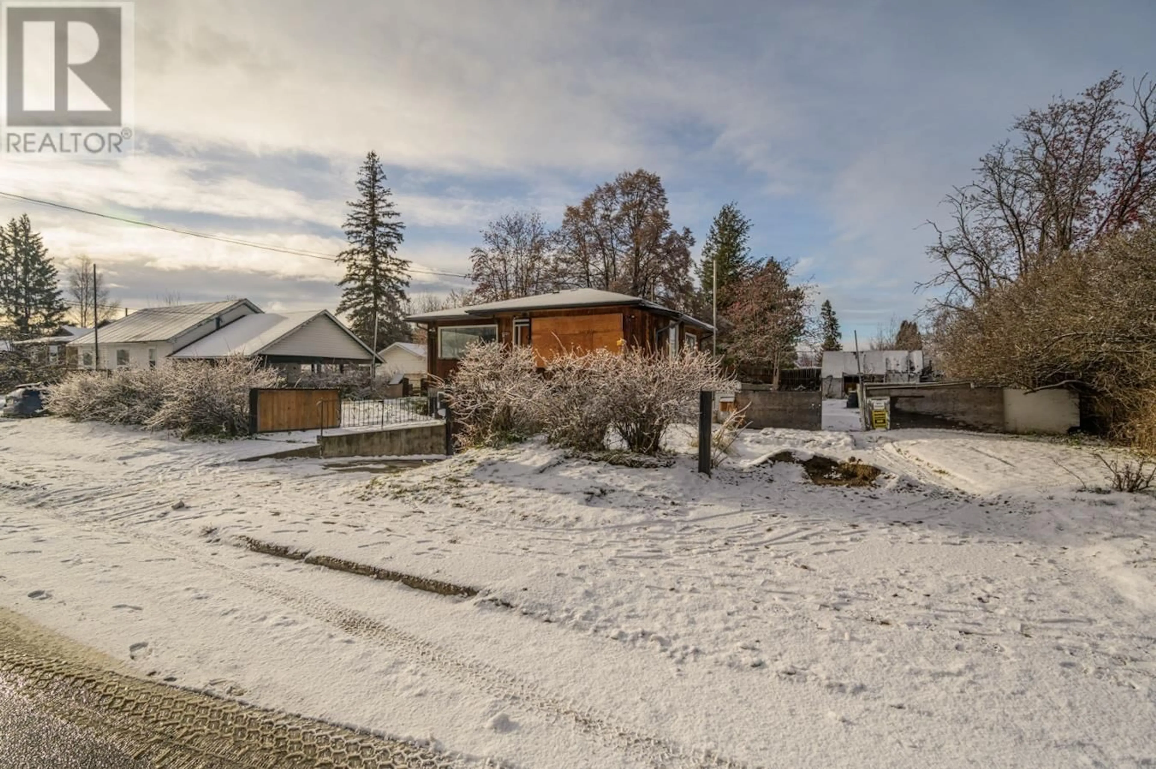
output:
<path id="1" fill-rule="evenodd" d="M 528 346 L 539 365 L 563 350 L 623 346 L 677 354 L 701 349 L 714 328 L 637 296 L 579 288 L 406 318 L 427 330 L 428 371 L 446 379 L 472 341 Z"/>

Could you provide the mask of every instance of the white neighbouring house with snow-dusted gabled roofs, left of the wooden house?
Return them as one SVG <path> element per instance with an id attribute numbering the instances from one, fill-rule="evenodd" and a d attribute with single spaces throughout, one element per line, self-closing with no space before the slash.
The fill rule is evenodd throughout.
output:
<path id="1" fill-rule="evenodd" d="M 249 300 L 139 310 L 72 342 L 79 350 L 80 368 L 94 368 L 97 339 L 101 369 L 143 369 L 169 361 L 242 355 L 301 371 L 302 365 L 357 365 L 375 357 L 327 310 L 262 312 Z"/>

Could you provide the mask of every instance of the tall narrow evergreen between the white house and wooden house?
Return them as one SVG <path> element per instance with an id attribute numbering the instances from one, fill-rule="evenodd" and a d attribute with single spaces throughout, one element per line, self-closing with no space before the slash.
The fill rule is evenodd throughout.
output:
<path id="1" fill-rule="evenodd" d="M 361 197 L 347 204 L 344 231 L 349 247 L 338 254 L 338 263 L 346 267 L 346 276 L 338 283 L 341 287 L 338 312 L 349 319 L 353 332 L 375 350 L 408 341 L 410 335 L 402 320 L 409 260 L 397 256 L 406 225 L 385 180 L 377 153 L 369 153 L 357 175 Z"/>

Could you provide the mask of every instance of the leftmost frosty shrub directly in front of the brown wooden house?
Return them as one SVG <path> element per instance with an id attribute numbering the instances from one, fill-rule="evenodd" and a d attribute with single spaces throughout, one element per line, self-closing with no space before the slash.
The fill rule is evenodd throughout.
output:
<path id="1" fill-rule="evenodd" d="M 474 342 L 450 378 L 446 394 L 460 422 L 462 446 L 494 446 L 540 431 L 536 402 L 544 391 L 528 347 Z"/>

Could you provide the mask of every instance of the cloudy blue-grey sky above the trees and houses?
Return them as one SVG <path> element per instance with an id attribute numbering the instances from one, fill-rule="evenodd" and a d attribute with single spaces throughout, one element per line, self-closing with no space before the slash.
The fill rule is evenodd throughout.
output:
<path id="1" fill-rule="evenodd" d="M 662 177 L 702 245 L 734 200 L 850 338 L 913 313 L 921 223 L 1013 117 L 1156 71 L 1150 0 L 139 0 L 136 154 L 0 161 L 0 191 L 319 253 L 370 149 L 402 254 L 461 274 L 487 221 L 551 222 L 617 172 Z M 126 306 L 335 306 L 339 269 L 0 199 Z M 697 257 L 697 254 L 696 254 Z M 414 273 L 415 293 L 462 281 Z"/>

